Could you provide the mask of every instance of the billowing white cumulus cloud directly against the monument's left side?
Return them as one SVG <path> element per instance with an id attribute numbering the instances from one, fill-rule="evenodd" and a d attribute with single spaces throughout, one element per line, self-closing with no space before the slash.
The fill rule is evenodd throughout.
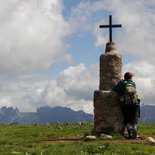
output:
<path id="1" fill-rule="evenodd" d="M 60 73 L 56 81 L 50 81 L 41 94 L 41 101 L 49 106 L 67 106 L 74 110 L 93 111 L 93 92 L 97 74 L 84 64 L 71 66 Z"/>

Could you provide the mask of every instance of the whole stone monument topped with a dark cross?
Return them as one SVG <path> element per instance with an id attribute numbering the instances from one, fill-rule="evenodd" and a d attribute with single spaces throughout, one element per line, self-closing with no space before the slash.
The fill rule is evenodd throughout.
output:
<path id="1" fill-rule="evenodd" d="M 99 90 L 94 92 L 94 132 L 98 134 L 120 132 L 123 128 L 119 95 L 111 90 L 122 77 L 122 56 L 112 41 L 112 28 L 115 27 L 121 25 L 112 25 L 111 15 L 109 25 L 100 25 L 100 28 L 109 28 L 109 42 L 100 56 Z"/>

